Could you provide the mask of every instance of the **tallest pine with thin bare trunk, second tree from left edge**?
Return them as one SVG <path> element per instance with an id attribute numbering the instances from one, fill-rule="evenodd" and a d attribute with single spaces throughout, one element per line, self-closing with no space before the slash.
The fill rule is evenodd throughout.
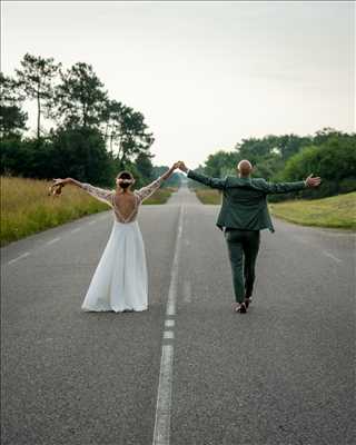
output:
<path id="1" fill-rule="evenodd" d="M 18 85 L 28 99 L 37 101 L 37 139 L 39 139 L 41 136 L 42 101 L 46 107 L 44 110 L 49 115 L 53 95 L 52 79 L 57 76 L 60 63 L 55 63 L 53 58 L 44 59 L 40 56 L 26 53 L 21 66 L 22 69 L 16 70 Z"/>

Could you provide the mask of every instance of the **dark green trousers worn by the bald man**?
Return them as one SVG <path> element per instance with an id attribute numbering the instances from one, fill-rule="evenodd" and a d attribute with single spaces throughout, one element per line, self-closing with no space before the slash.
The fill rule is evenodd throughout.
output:
<path id="1" fill-rule="evenodd" d="M 243 303 L 253 295 L 255 265 L 259 249 L 259 230 L 225 230 L 236 301 Z"/>

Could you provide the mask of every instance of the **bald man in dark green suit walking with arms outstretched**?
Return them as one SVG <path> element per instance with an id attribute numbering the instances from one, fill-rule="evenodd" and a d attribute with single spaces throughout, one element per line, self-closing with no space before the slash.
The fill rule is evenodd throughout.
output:
<path id="1" fill-rule="evenodd" d="M 217 226 L 224 230 L 227 241 L 236 304 L 234 310 L 246 313 L 251 301 L 255 283 L 255 264 L 259 249 L 259 231 L 268 228 L 275 231 L 267 206 L 267 195 L 303 190 L 318 187 L 320 178 L 308 176 L 298 182 L 267 182 L 261 178 L 251 178 L 253 166 L 248 160 L 237 165 L 237 176 L 225 179 L 209 178 L 189 170 L 180 161 L 178 168 L 188 178 L 222 191 L 222 205 Z"/>

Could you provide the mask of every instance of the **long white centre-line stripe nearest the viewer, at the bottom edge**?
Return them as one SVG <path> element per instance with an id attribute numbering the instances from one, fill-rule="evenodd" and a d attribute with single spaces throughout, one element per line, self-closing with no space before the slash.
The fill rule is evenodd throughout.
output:
<path id="1" fill-rule="evenodd" d="M 169 445 L 174 346 L 164 345 L 156 407 L 154 445 Z"/>

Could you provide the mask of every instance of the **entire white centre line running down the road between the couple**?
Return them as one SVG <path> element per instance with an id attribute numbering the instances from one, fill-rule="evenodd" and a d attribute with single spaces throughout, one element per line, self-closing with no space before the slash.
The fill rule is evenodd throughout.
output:
<path id="1" fill-rule="evenodd" d="M 184 207 L 180 207 L 177 238 L 175 245 L 175 257 L 171 267 L 170 285 L 167 300 L 167 316 L 176 314 L 176 299 L 178 286 L 178 264 L 182 234 Z M 175 320 L 166 319 L 165 324 L 174 325 Z M 164 339 L 174 339 L 172 330 L 164 332 Z M 154 445 L 169 445 L 170 441 L 170 405 L 171 405 L 171 383 L 174 367 L 174 345 L 162 345 L 160 359 L 159 383 L 157 392 L 156 419 L 154 431 Z"/>

